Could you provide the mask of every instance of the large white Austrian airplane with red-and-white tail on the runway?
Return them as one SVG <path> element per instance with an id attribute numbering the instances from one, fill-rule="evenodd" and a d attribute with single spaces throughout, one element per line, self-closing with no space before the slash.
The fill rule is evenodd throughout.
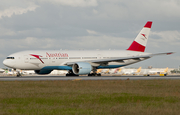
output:
<path id="1" fill-rule="evenodd" d="M 97 69 L 113 69 L 134 64 L 167 53 L 145 52 L 152 21 L 148 21 L 127 50 L 35 50 L 9 55 L 3 64 L 9 68 L 34 70 L 50 74 L 53 70 L 68 70 L 66 76 L 97 76 Z M 91 72 L 92 71 L 92 72 Z M 19 74 L 17 74 L 19 77 Z"/>

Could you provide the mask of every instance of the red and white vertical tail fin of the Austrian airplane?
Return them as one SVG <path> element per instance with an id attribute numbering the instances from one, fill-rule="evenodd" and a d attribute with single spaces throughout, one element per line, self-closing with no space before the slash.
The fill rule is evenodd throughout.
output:
<path id="1" fill-rule="evenodd" d="M 127 50 L 144 52 L 151 30 L 152 22 L 148 21 L 140 33 L 137 35 L 136 39 L 133 41 L 131 46 Z"/>

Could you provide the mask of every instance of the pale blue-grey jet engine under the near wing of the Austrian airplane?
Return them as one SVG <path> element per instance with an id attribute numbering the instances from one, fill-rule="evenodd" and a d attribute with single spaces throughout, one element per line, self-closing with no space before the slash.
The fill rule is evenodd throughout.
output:
<path id="1" fill-rule="evenodd" d="M 78 62 L 73 64 L 72 70 L 76 75 L 84 75 L 89 74 L 92 71 L 92 66 L 87 62 Z"/>

